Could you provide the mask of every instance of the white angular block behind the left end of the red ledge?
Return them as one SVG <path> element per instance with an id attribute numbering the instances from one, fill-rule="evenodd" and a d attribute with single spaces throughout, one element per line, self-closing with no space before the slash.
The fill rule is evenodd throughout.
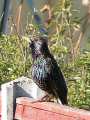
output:
<path id="1" fill-rule="evenodd" d="M 29 97 L 37 99 L 44 95 L 29 78 L 20 77 L 1 86 L 2 120 L 13 120 L 16 109 L 16 98 Z"/>

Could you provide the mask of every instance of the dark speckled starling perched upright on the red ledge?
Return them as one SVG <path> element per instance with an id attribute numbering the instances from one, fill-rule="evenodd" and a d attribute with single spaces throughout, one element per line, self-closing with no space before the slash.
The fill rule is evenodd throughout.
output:
<path id="1" fill-rule="evenodd" d="M 32 54 L 32 79 L 46 95 L 41 101 L 59 99 L 64 105 L 68 104 L 67 85 L 62 71 L 48 47 L 48 38 L 35 37 L 29 47 Z"/>

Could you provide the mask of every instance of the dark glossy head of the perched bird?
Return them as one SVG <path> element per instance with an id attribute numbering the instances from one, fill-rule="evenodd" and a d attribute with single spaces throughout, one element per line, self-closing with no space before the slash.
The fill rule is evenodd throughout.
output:
<path id="1" fill-rule="evenodd" d="M 44 37 L 34 38 L 30 42 L 30 48 L 32 52 L 32 56 L 38 57 L 40 55 L 46 55 L 49 52 L 48 49 L 48 40 Z"/>

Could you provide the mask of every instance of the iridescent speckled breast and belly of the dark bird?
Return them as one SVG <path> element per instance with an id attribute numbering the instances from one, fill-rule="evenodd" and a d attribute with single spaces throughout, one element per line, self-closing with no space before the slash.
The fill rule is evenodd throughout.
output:
<path id="1" fill-rule="evenodd" d="M 34 82 L 42 89 L 47 91 L 48 89 L 48 77 L 50 74 L 50 58 L 44 58 L 44 56 L 38 57 L 32 67 L 32 77 Z"/>

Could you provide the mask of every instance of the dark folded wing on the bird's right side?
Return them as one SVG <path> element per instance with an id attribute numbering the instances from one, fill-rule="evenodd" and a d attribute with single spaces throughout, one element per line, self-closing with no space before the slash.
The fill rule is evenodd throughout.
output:
<path id="1" fill-rule="evenodd" d="M 51 88 L 55 91 L 67 93 L 66 82 L 64 76 L 54 58 L 47 59 L 48 74 L 49 74 L 49 84 Z"/>

